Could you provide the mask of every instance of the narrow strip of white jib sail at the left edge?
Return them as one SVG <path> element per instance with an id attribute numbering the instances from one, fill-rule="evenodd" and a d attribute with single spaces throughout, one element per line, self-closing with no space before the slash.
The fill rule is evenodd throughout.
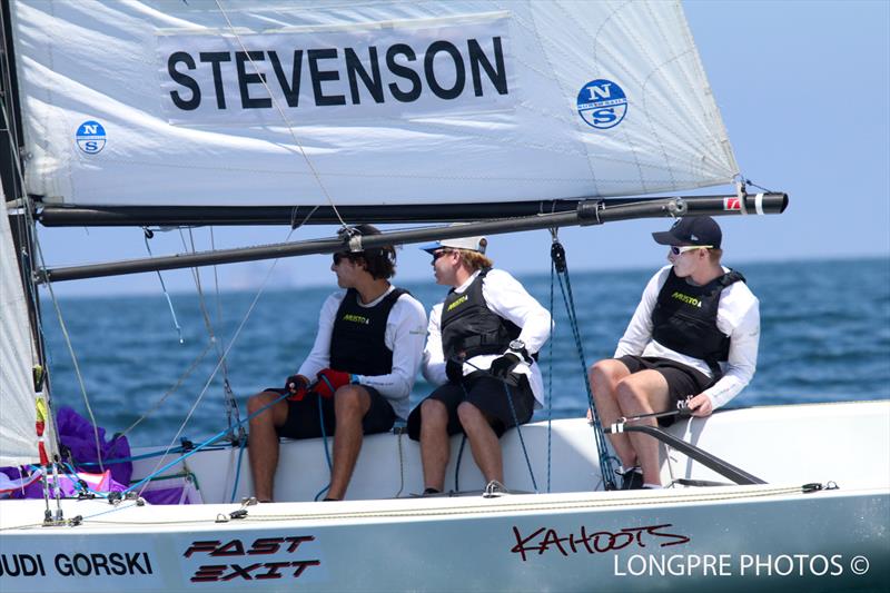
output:
<path id="1" fill-rule="evenodd" d="M 32 368 L 37 355 L 28 318 L 28 303 L 19 276 L 16 248 L 0 188 L 0 466 L 40 463 L 36 429 L 38 416 L 44 429 L 47 453 L 52 419 L 46 394 L 34 394 Z"/>

